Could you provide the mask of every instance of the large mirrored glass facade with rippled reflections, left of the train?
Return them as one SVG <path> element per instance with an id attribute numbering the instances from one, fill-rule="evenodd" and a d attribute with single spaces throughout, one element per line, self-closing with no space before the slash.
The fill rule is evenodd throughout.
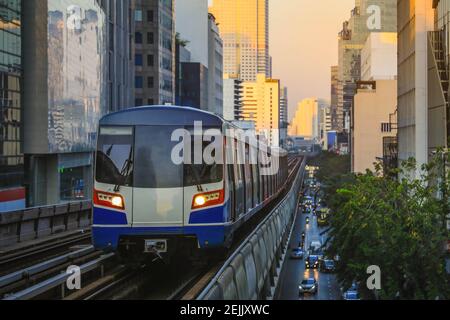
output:
<path id="1" fill-rule="evenodd" d="M 95 0 L 48 0 L 50 153 L 94 149 L 106 113 L 105 14 Z"/>

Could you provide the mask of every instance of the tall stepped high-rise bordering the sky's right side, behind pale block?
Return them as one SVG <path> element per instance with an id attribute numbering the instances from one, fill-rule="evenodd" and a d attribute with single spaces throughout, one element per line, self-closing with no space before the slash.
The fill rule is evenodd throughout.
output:
<path id="1" fill-rule="evenodd" d="M 369 33 L 396 31 L 395 0 L 355 0 L 351 17 L 339 33 L 337 130 L 350 130 L 356 82 L 361 80 L 361 50 Z"/>

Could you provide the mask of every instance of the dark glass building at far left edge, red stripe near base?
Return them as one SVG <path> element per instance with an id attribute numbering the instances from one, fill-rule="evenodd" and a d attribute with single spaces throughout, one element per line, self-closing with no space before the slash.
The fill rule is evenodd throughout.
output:
<path id="1" fill-rule="evenodd" d="M 0 0 L 0 212 L 25 207 L 21 0 Z"/>

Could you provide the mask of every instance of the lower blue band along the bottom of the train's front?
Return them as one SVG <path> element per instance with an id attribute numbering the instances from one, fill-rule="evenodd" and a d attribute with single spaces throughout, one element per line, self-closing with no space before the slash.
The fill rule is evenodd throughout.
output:
<path id="1" fill-rule="evenodd" d="M 93 227 L 94 246 L 101 250 L 116 250 L 120 236 L 169 236 L 194 235 L 201 248 L 216 248 L 224 245 L 230 226 L 190 227 Z M 208 242 L 208 246 L 205 245 Z"/>

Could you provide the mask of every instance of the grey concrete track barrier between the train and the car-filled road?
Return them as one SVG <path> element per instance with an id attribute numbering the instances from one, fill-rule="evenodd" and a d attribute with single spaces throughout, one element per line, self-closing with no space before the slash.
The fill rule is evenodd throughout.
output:
<path id="1" fill-rule="evenodd" d="M 197 300 L 272 299 L 297 213 L 306 159 L 291 190 L 225 262 Z"/>

